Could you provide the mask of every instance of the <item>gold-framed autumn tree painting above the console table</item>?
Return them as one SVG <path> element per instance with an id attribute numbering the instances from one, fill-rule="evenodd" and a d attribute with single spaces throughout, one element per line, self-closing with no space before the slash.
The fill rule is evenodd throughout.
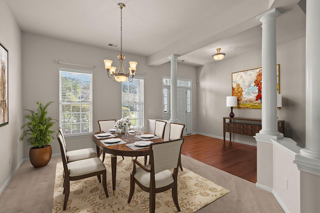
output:
<path id="1" fill-rule="evenodd" d="M 279 93 L 280 65 L 276 65 L 276 89 Z M 232 96 L 237 97 L 237 108 L 261 109 L 262 68 L 232 72 Z"/>

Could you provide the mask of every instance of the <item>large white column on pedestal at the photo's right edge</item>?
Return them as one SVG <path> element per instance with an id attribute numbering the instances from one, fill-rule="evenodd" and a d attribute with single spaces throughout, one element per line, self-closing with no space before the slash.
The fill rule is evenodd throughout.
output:
<path id="1" fill-rule="evenodd" d="M 301 212 L 307 213 L 320 212 L 319 9 L 319 0 L 306 0 L 305 148 L 295 156 L 294 161 L 300 170 Z"/>

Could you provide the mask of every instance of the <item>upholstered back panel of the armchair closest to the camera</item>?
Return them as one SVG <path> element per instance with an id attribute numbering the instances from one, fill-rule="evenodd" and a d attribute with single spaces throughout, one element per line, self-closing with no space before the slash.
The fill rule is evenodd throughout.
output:
<path id="1" fill-rule="evenodd" d="M 180 138 L 173 141 L 150 144 L 150 162 L 154 174 L 178 167 L 178 160 L 183 141 L 184 138 Z"/>

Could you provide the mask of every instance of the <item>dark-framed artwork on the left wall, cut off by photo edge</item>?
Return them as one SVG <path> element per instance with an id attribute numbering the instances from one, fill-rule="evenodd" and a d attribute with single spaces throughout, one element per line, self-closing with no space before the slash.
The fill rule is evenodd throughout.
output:
<path id="1" fill-rule="evenodd" d="M 8 50 L 0 43 L 0 126 L 8 119 Z"/>

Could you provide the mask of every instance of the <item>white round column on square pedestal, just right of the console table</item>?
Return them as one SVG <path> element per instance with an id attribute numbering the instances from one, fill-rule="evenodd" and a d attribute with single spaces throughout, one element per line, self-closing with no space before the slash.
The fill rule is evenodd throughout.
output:
<path id="1" fill-rule="evenodd" d="M 262 22 L 262 129 L 255 134 L 257 145 L 256 186 L 271 192 L 273 187 L 273 147 L 271 139 L 283 138 L 277 131 L 276 114 L 276 34 L 274 8 L 257 18 Z"/>

